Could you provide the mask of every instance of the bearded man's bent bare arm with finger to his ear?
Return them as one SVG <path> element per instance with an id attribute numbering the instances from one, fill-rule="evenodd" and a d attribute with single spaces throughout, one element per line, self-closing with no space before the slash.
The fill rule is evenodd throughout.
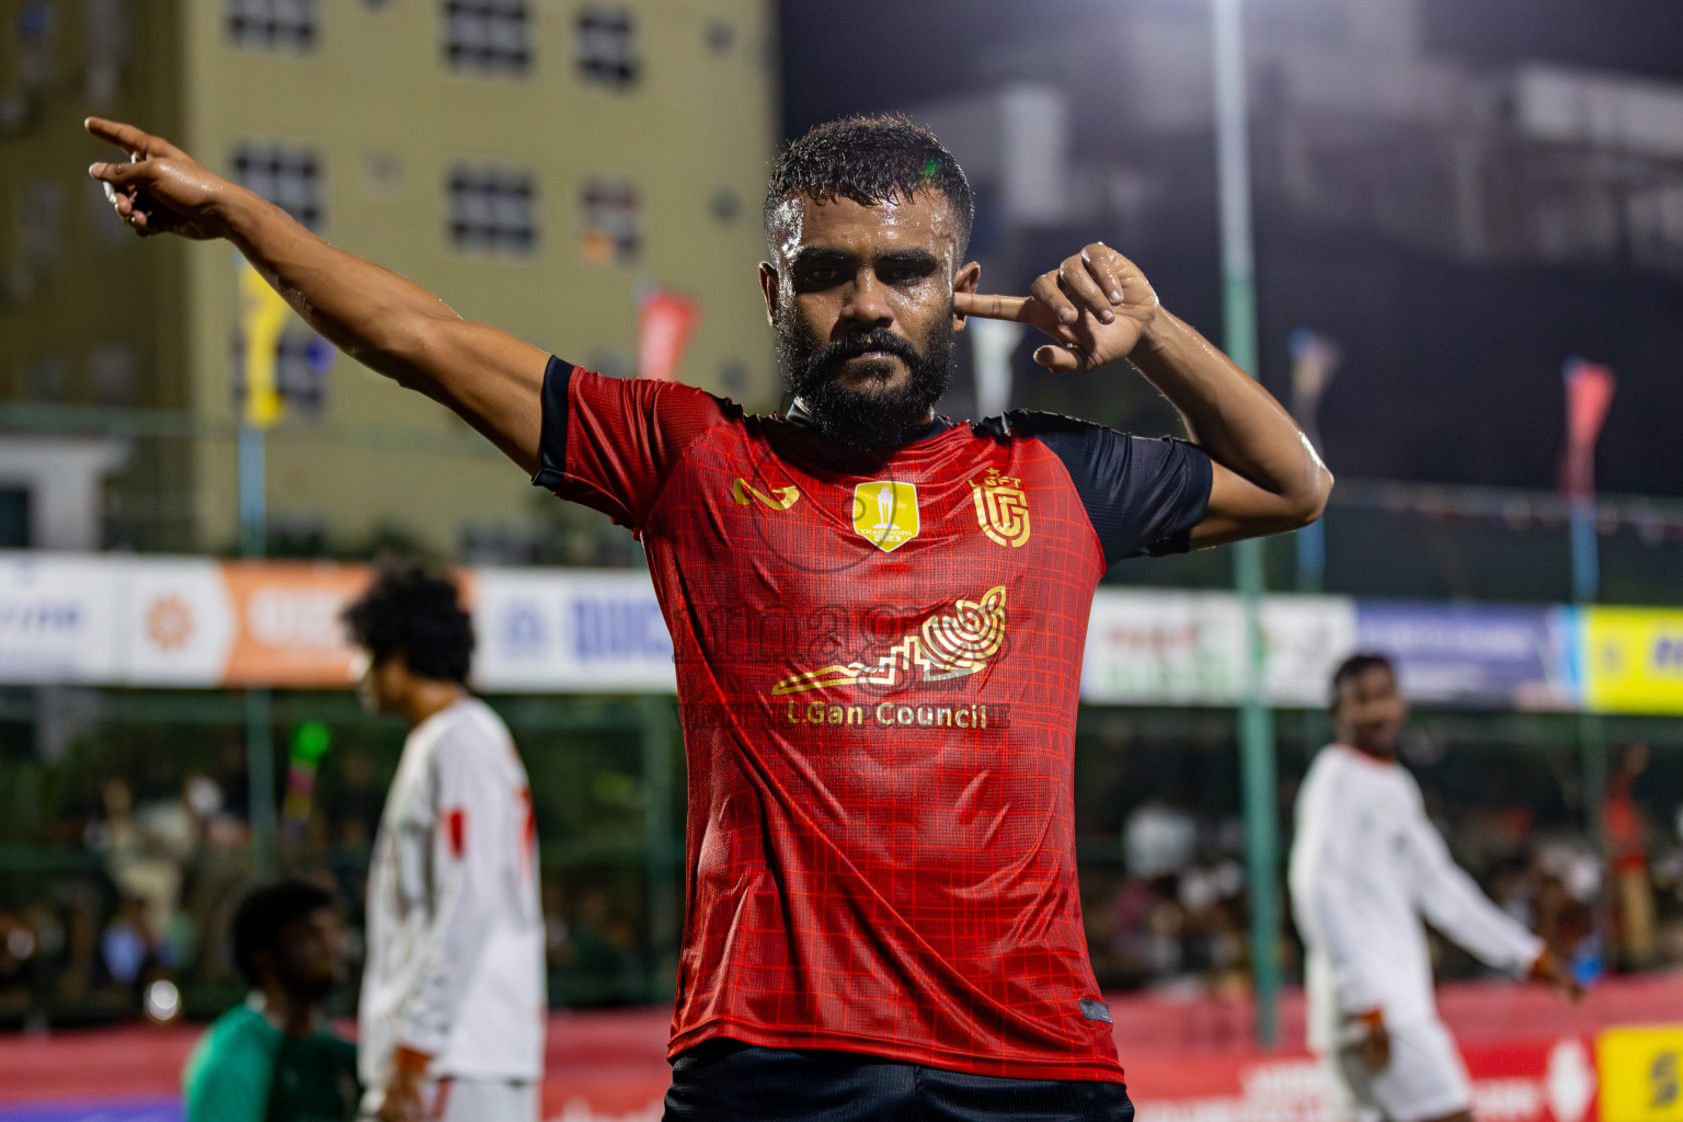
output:
<path id="1" fill-rule="evenodd" d="M 954 293 L 959 315 L 1032 323 L 1057 345 L 1049 370 L 1094 370 L 1128 358 L 1187 419 L 1215 471 L 1193 545 L 1296 530 L 1321 516 L 1333 476 L 1279 402 L 1227 355 L 1170 315 L 1139 267 L 1087 246 L 1035 279 L 1030 296 Z"/>

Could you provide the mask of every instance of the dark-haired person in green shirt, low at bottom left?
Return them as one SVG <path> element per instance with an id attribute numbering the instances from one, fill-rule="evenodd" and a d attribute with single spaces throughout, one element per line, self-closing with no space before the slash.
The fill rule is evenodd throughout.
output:
<path id="1" fill-rule="evenodd" d="M 257 888 L 232 927 L 234 961 L 252 992 L 188 1056 L 187 1122 L 350 1122 L 357 1048 L 330 1033 L 320 1011 L 343 969 L 332 893 L 305 881 Z"/>

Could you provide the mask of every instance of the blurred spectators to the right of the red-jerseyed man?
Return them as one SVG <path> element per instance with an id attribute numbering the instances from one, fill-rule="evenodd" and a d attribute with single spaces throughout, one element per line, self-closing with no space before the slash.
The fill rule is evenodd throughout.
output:
<path id="1" fill-rule="evenodd" d="M 1540 821 L 1548 816 L 1537 806 L 1451 807 L 1427 787 L 1456 858 L 1585 984 L 1683 967 L 1683 802 L 1643 791 L 1649 759 L 1649 749 L 1636 744 L 1616 760 L 1599 846 L 1582 828 Z M 1101 986 L 1245 992 L 1250 905 L 1242 819 L 1149 801 L 1126 814 L 1121 833 L 1119 865 L 1082 868 L 1087 945 Z M 1289 908 L 1284 922 L 1282 964 L 1287 979 L 1301 982 Z M 1439 979 L 1486 972 L 1447 940 L 1434 937 L 1432 945 Z"/>

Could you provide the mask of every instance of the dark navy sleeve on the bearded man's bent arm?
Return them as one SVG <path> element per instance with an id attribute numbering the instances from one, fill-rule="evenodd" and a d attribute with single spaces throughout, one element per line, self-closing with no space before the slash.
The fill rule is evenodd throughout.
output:
<path id="1" fill-rule="evenodd" d="M 1005 414 L 1015 437 L 1050 447 L 1075 483 L 1104 564 L 1124 557 L 1185 553 L 1192 528 L 1210 505 L 1210 456 L 1197 444 L 1128 436 L 1101 424 L 1017 409 Z"/>

